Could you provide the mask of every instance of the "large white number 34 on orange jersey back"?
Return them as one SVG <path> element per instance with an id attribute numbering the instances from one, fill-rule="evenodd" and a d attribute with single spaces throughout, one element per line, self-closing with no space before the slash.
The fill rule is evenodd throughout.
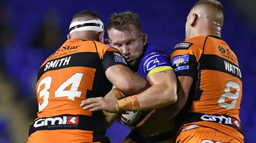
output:
<path id="1" fill-rule="evenodd" d="M 76 73 L 68 80 L 66 80 L 61 86 L 54 92 L 54 97 L 68 97 L 70 100 L 75 100 L 75 97 L 80 97 L 82 94 L 82 91 L 78 91 L 78 87 L 80 85 L 80 82 L 82 80 L 84 74 L 82 73 Z M 52 77 L 47 76 L 46 78 L 42 79 L 38 85 L 37 93 L 40 90 L 40 86 L 44 85 L 44 89 L 39 92 L 39 98 L 44 96 L 43 100 L 44 102 L 42 104 L 38 104 L 38 110 L 42 111 L 49 103 L 49 96 L 50 92 L 48 91 L 50 89 L 52 83 Z M 66 87 L 68 87 L 70 84 L 72 84 L 70 90 L 64 90 Z"/>

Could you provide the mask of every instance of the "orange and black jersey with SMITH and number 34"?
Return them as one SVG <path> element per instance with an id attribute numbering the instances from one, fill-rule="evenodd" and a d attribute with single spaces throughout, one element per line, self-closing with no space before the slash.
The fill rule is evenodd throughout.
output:
<path id="1" fill-rule="evenodd" d="M 36 84 L 38 113 L 28 143 L 84 143 L 104 139 L 104 115 L 80 103 L 104 97 L 112 88 L 105 71 L 125 65 L 117 49 L 96 41 L 70 39 L 40 67 Z"/>

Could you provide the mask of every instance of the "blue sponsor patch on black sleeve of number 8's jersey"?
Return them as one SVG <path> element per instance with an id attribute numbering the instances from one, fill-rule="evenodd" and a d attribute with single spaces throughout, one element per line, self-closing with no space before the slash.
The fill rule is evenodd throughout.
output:
<path id="1" fill-rule="evenodd" d="M 188 55 L 174 57 L 172 58 L 171 63 L 172 63 L 172 67 L 174 67 L 175 72 L 184 70 L 184 69 L 189 69 L 188 65 L 186 64 L 188 63 Z"/>

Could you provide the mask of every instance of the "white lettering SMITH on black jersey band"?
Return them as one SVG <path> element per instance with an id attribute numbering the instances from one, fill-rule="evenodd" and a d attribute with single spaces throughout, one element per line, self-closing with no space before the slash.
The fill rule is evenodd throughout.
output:
<path id="1" fill-rule="evenodd" d="M 62 58 L 62 59 L 58 59 L 58 60 L 49 61 L 48 63 L 46 63 L 44 71 L 46 71 L 47 69 L 50 69 L 50 68 L 56 68 L 56 67 L 68 65 L 70 58 L 71 58 L 71 56 Z"/>

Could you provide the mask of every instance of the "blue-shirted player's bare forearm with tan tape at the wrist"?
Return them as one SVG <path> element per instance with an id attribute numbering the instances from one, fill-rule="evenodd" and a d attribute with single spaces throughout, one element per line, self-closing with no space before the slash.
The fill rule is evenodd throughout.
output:
<path id="1" fill-rule="evenodd" d="M 176 100 L 176 86 L 155 84 L 140 94 L 118 100 L 118 107 L 120 111 L 153 110 L 173 104 Z"/>

